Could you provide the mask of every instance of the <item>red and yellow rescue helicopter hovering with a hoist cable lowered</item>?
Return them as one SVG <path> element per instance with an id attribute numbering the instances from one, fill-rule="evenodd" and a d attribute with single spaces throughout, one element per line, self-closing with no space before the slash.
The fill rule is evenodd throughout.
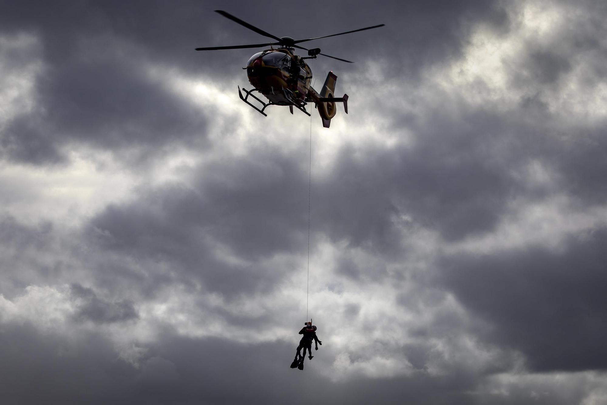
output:
<path id="1" fill-rule="evenodd" d="M 270 49 L 265 49 L 262 52 L 257 52 L 246 63 L 246 75 L 249 79 L 249 83 L 253 86 L 253 89 L 247 90 L 238 86 L 238 94 L 243 102 L 253 107 L 257 111 L 261 112 L 264 116 L 266 114 L 265 109 L 271 105 L 282 105 L 289 106 L 291 114 L 293 114 L 293 107 L 304 112 L 308 116 L 311 116 L 310 112 L 305 109 L 305 106 L 312 102 L 314 107 L 318 109 L 320 118 L 322 119 L 322 126 L 329 128 L 331 118 L 333 118 L 337 112 L 335 103 L 344 103 L 345 113 L 348 113 L 348 95 L 344 94 L 343 97 L 334 97 L 335 94 L 335 83 L 337 76 L 330 71 L 327 74 L 325 83 L 322 86 L 320 92 L 314 90 L 310 85 L 312 79 L 312 69 L 305 62 L 307 59 L 316 59 L 317 55 L 323 55 L 325 57 L 333 58 L 347 63 L 353 63 L 352 61 L 345 60 L 342 58 L 333 57 L 327 54 L 321 54 L 320 48 L 307 49 L 297 44 L 312 40 L 319 40 L 320 38 L 328 38 L 329 36 L 344 35 L 347 33 L 370 30 L 373 28 L 383 27 L 385 24 L 379 24 L 376 26 L 365 27 L 358 30 L 351 30 L 347 32 L 340 32 L 332 35 L 317 36 L 316 38 L 306 38 L 304 40 L 294 40 L 290 36 L 278 36 L 272 35 L 271 33 L 265 32 L 240 18 L 237 18 L 223 10 L 215 10 L 216 13 L 224 16 L 225 18 L 231 19 L 237 22 L 243 27 L 248 28 L 254 32 L 257 32 L 268 38 L 272 38 L 276 42 L 262 43 L 262 44 L 248 44 L 248 45 L 234 45 L 234 46 L 212 46 L 212 47 L 200 47 L 196 50 L 220 50 L 220 49 L 246 49 L 246 48 L 259 48 L 270 46 Z M 295 49 L 303 49 L 308 51 L 307 57 L 300 57 L 295 54 Z M 245 96 L 242 95 L 245 92 Z M 253 92 L 259 92 L 269 102 L 264 102 L 262 99 L 253 94 Z M 262 105 L 262 108 L 254 105 L 249 101 L 249 97 L 257 100 Z"/>

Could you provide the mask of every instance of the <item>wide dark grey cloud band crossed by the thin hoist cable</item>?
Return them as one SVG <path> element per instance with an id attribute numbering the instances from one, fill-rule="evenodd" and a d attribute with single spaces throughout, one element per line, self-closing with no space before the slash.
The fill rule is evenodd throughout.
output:
<path id="1" fill-rule="evenodd" d="M 495 117 L 473 118 L 487 128 L 500 125 Z M 412 148 L 369 148 L 362 160 L 345 148 L 334 170 L 314 179 L 313 232 L 396 258 L 402 227 L 428 227 L 453 240 L 491 230 L 515 187 L 500 164 L 486 161 L 484 150 L 496 137 L 435 130 Z M 307 249 L 308 173 L 301 160 L 264 147 L 245 159 L 203 165 L 195 169 L 195 188 L 163 186 L 108 207 L 93 218 L 89 237 L 102 249 L 177 266 L 185 280 L 195 275 L 212 291 L 268 291 L 292 269 L 263 268 L 260 260 Z M 221 263 L 212 241 L 246 264 Z M 388 277 L 384 261 L 362 264 L 347 255 L 337 271 L 376 282 Z M 172 280 L 158 274 L 159 283 Z"/>

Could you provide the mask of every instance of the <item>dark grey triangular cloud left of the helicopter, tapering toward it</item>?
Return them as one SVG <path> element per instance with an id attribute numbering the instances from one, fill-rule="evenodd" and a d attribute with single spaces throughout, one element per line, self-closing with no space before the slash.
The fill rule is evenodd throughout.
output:
<path id="1" fill-rule="evenodd" d="M 13 158 L 56 160 L 57 149 L 70 141 L 153 152 L 204 139 L 202 112 L 146 77 L 141 60 L 117 57 L 103 41 L 87 46 L 94 50 L 72 50 L 46 67 L 36 86 L 41 108 L 18 116 L 5 130 L 5 151 Z"/>

